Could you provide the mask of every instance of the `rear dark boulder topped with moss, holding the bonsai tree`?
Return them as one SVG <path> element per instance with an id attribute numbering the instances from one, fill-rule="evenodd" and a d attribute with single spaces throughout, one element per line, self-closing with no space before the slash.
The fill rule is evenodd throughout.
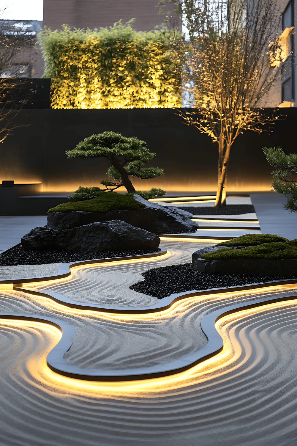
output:
<path id="1" fill-rule="evenodd" d="M 48 228 L 61 231 L 76 226 L 109 220 L 122 220 L 133 226 L 141 227 L 155 234 L 169 234 L 180 232 L 195 232 L 197 223 L 191 220 L 192 214 L 177 207 L 162 206 L 148 202 L 140 195 L 134 195 L 135 200 L 145 204 L 139 209 L 110 212 L 50 212 Z"/>

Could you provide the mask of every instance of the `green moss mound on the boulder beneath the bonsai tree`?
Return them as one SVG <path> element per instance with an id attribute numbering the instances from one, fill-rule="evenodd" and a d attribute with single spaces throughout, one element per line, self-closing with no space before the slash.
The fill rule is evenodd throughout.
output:
<path id="1" fill-rule="evenodd" d="M 109 211 L 127 211 L 130 209 L 139 209 L 145 206 L 135 200 L 133 194 L 117 194 L 107 192 L 99 197 L 91 200 L 83 200 L 72 203 L 61 203 L 56 207 L 49 209 L 50 212 L 70 212 L 70 211 L 87 211 L 87 212 L 109 212 Z"/>

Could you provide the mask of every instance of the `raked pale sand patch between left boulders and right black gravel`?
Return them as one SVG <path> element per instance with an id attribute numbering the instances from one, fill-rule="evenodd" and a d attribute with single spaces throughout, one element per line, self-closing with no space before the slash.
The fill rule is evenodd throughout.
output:
<path id="1" fill-rule="evenodd" d="M 69 299 L 102 306 L 151 306 L 158 302 L 157 297 L 147 296 L 129 289 L 130 285 L 143 280 L 141 273 L 151 268 L 191 262 L 192 253 L 212 242 L 162 241 L 162 248 L 170 252 L 165 259 L 90 266 L 73 270 L 71 279 L 40 287 L 42 290 L 63 294 Z"/>

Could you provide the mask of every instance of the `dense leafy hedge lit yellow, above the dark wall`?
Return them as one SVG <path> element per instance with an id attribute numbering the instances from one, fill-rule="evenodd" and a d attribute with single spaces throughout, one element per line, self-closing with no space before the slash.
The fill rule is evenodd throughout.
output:
<path id="1" fill-rule="evenodd" d="M 181 106 L 183 61 L 167 31 L 136 32 L 117 22 L 100 29 L 39 34 L 52 108 Z"/>

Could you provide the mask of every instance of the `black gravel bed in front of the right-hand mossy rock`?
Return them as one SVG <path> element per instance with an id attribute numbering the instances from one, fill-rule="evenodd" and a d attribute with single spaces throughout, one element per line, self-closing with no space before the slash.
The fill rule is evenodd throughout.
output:
<path id="1" fill-rule="evenodd" d="M 191 263 L 153 268 L 142 273 L 144 280 L 130 286 L 130 289 L 148 296 L 163 297 L 174 293 L 211 288 L 227 288 L 275 280 L 297 279 L 294 276 L 263 274 L 199 273 Z"/>

